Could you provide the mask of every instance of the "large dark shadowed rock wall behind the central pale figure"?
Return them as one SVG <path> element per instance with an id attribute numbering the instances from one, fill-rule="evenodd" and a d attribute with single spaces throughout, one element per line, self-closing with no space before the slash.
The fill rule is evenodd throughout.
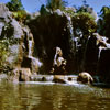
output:
<path id="1" fill-rule="evenodd" d="M 44 64 L 44 72 L 51 70 L 56 46 L 62 48 L 64 58 L 68 61 L 67 69 L 72 70 L 73 66 L 69 64 L 75 65 L 75 62 L 70 16 L 68 18 L 59 9 L 54 12 L 47 11 L 32 19 L 28 25 L 33 33 L 37 55 Z"/>

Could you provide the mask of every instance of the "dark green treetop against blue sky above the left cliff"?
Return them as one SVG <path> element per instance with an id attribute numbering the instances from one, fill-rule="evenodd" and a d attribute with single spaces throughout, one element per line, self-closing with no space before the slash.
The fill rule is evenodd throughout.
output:
<path id="1" fill-rule="evenodd" d="M 10 11 L 24 10 L 21 0 L 11 0 L 7 3 L 7 7 L 9 8 Z"/>

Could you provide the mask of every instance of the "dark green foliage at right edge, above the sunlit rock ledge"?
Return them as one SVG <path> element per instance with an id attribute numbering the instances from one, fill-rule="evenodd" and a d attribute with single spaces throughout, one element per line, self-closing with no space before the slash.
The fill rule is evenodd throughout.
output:
<path id="1" fill-rule="evenodd" d="M 109 7 L 103 7 L 101 9 L 98 25 L 99 25 L 99 33 L 110 38 L 110 8 Z"/>

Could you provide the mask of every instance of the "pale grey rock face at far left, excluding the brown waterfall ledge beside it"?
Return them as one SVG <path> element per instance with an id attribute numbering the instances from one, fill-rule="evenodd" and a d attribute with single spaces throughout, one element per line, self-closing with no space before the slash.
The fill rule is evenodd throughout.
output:
<path id="1" fill-rule="evenodd" d="M 10 66 L 19 66 L 22 62 L 23 31 L 18 21 L 12 19 L 11 12 L 4 4 L 0 4 L 0 38 L 8 38 L 9 56 L 7 63 Z"/>

